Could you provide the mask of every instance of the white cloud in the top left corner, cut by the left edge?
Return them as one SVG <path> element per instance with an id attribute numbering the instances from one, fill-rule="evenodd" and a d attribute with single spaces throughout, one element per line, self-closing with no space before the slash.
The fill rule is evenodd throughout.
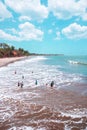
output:
<path id="1" fill-rule="evenodd" d="M 4 20 L 5 18 L 11 18 L 12 14 L 6 8 L 6 6 L 0 1 L 0 21 Z"/>

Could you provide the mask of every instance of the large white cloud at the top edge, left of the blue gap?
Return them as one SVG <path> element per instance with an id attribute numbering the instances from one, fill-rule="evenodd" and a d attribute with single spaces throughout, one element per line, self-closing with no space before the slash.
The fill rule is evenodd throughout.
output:
<path id="1" fill-rule="evenodd" d="M 5 4 L 15 12 L 29 19 L 42 21 L 48 17 L 48 9 L 40 0 L 5 0 Z"/>

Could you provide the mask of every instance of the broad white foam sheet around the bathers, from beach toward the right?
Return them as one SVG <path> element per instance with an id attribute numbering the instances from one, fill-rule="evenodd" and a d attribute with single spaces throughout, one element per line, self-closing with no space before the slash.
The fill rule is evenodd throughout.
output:
<path id="1" fill-rule="evenodd" d="M 54 80 L 56 87 L 60 85 L 62 87 L 64 85 L 69 86 L 71 82 L 78 82 L 81 80 L 79 75 L 64 73 L 58 69 L 58 66 L 45 65 L 38 62 L 44 59 L 46 59 L 44 56 L 33 57 L 25 59 L 24 61 L 18 61 L 14 64 L 10 64 L 5 69 L 1 69 L 0 87 L 16 87 L 17 82 L 21 82 L 22 80 L 24 82 L 24 87 L 36 87 L 36 79 L 38 80 L 37 86 L 43 86 L 46 83 L 50 84 L 51 80 Z M 17 71 L 16 75 L 14 74 L 15 70 Z M 24 75 L 24 79 L 22 79 L 22 75 Z"/>

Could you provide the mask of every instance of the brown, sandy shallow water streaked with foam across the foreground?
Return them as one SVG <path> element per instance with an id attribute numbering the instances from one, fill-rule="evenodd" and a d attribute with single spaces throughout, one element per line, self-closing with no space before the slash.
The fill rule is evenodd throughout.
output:
<path id="1" fill-rule="evenodd" d="M 86 130 L 87 112 L 83 114 L 86 96 L 45 86 L 12 91 L 21 100 L 3 100 L 0 109 L 12 115 L 3 119 L 0 130 Z"/>

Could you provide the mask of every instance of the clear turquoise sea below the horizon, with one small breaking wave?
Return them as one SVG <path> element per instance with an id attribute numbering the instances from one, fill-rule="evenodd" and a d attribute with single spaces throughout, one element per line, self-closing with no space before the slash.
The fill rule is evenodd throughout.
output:
<path id="1" fill-rule="evenodd" d="M 87 76 L 87 56 L 50 56 L 45 62 L 60 66 L 61 71 Z"/>

